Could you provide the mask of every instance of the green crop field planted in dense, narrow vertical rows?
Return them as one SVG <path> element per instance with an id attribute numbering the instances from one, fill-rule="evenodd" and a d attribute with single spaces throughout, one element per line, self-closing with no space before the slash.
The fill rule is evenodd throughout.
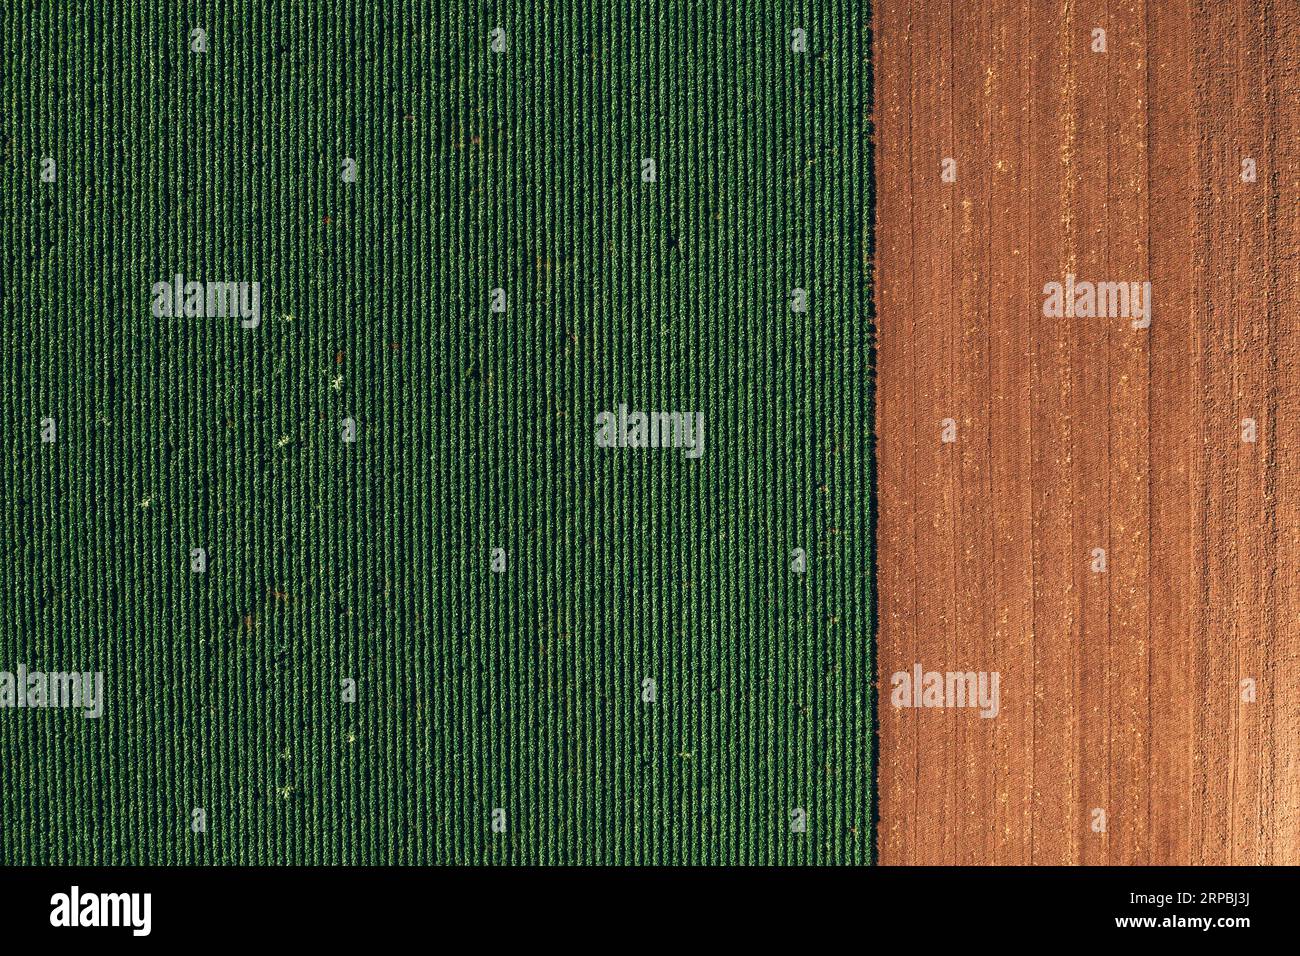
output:
<path id="1" fill-rule="evenodd" d="M 852 0 L 0 7 L 0 862 L 870 862 L 870 160 Z"/>

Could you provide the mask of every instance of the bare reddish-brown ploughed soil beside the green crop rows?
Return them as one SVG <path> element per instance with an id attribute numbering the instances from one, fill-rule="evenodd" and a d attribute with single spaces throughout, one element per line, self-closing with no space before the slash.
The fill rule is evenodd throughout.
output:
<path id="1" fill-rule="evenodd" d="M 874 23 L 880 861 L 1300 862 L 1300 7 Z M 915 662 L 998 715 L 892 706 Z"/>

